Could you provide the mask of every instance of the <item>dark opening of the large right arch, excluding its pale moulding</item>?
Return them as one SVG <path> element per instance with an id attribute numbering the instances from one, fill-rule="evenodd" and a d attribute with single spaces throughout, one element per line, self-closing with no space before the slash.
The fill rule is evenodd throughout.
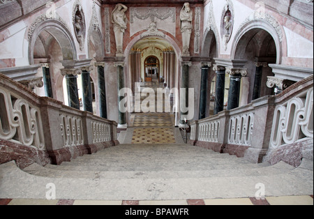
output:
<path id="1" fill-rule="evenodd" d="M 241 80 L 239 106 L 252 100 L 274 94 L 267 77 L 273 76 L 269 63 L 278 63 L 276 40 L 265 29 L 253 28 L 244 33 L 234 47 L 234 59 L 246 60 L 247 76 Z"/>

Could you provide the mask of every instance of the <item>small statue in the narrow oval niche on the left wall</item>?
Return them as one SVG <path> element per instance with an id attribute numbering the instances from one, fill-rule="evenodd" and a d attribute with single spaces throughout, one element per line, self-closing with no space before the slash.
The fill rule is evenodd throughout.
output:
<path id="1" fill-rule="evenodd" d="M 75 36 L 80 44 L 80 50 L 84 49 L 85 23 L 81 6 L 77 5 L 74 15 Z"/>

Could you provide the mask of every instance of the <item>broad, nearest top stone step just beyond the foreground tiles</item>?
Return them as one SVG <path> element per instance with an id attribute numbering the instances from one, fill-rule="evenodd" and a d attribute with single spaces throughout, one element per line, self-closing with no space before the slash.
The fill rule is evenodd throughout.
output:
<path id="1" fill-rule="evenodd" d="M 66 179 L 41 177 L 19 169 L 15 162 L 0 165 L 0 198 L 43 199 L 56 188 L 57 199 L 184 200 L 255 197 L 264 185 L 266 196 L 313 194 L 313 171 L 297 168 L 271 176 L 232 176 L 183 179 Z M 292 183 L 293 182 L 293 183 Z M 49 194 L 48 194 L 49 195 Z"/>

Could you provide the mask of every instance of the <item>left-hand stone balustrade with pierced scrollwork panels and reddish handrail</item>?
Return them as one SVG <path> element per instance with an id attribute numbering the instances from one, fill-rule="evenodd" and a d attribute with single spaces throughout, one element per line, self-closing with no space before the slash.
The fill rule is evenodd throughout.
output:
<path id="1" fill-rule="evenodd" d="M 57 160 L 56 154 L 62 157 L 60 151 L 80 150 L 85 146 L 89 152 L 95 152 L 99 147 L 96 144 L 119 144 L 115 121 L 37 96 L 1 73 L 0 139 L 47 151 Z M 76 155 L 72 153 L 71 158 L 73 156 Z M 60 162 L 62 159 L 56 163 Z"/>

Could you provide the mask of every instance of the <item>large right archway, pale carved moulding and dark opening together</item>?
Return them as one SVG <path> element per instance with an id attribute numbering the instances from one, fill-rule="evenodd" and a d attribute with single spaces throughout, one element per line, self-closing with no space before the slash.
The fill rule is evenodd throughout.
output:
<path id="1" fill-rule="evenodd" d="M 263 20 L 249 20 L 242 24 L 231 51 L 231 59 L 246 60 L 247 75 L 241 80 L 240 106 L 274 94 L 265 86 L 267 77 L 274 75 L 268 65 L 280 64 L 282 56 L 283 32 L 274 18 L 266 15 Z"/>

